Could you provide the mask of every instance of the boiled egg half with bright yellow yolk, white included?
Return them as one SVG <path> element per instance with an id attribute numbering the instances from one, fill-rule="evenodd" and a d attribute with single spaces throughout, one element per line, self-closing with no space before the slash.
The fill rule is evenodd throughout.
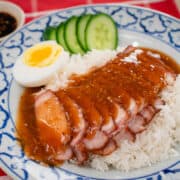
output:
<path id="1" fill-rule="evenodd" d="M 15 80 L 25 87 L 46 85 L 63 69 L 69 54 L 55 41 L 38 43 L 17 59 L 13 67 Z"/>

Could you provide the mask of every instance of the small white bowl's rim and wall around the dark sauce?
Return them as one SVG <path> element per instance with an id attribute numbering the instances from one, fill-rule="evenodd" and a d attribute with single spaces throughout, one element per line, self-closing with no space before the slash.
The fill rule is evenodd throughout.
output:
<path id="1" fill-rule="evenodd" d="M 17 27 L 9 34 L 0 37 L 0 42 L 15 32 L 17 29 L 21 28 L 25 22 L 24 11 L 16 4 L 13 4 L 8 1 L 0 1 L 0 12 L 8 13 L 13 16 L 17 21 Z"/>

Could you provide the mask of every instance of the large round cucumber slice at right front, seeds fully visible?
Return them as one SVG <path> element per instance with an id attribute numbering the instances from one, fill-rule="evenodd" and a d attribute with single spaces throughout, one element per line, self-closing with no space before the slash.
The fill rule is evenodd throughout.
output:
<path id="1" fill-rule="evenodd" d="M 86 44 L 91 49 L 115 49 L 118 44 L 117 27 L 104 13 L 93 16 L 86 27 Z"/>

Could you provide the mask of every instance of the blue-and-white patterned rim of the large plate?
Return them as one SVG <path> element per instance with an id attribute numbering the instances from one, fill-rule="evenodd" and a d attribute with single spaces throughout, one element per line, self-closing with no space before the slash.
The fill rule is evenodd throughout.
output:
<path id="1" fill-rule="evenodd" d="M 24 49 L 42 40 L 42 32 L 46 26 L 57 25 L 72 15 L 97 12 L 110 14 L 116 20 L 119 29 L 146 33 L 180 52 L 180 22 L 178 20 L 155 11 L 121 5 L 92 5 L 61 10 L 27 24 L 10 36 L 0 46 L 0 164 L 14 178 L 30 178 L 26 168 L 30 167 L 29 164 L 38 165 L 24 155 L 21 148 L 17 146 L 18 139 L 14 135 L 14 120 L 9 107 L 9 93 L 13 81 L 11 68 L 14 60 L 22 54 Z M 157 26 L 153 24 L 158 24 L 159 28 L 154 28 Z M 46 167 L 41 168 L 38 174 L 39 179 L 45 179 L 46 173 L 51 174 L 51 179 L 93 179 L 63 168 L 48 168 L 48 170 Z M 133 179 L 160 180 L 164 176 L 171 178 L 171 175 L 177 173 L 180 173 L 180 161 L 160 172 Z"/>

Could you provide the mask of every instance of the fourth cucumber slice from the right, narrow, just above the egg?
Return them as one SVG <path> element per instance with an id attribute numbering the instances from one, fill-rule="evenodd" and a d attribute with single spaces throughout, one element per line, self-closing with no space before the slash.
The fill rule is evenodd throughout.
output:
<path id="1" fill-rule="evenodd" d="M 59 26 L 56 29 L 56 41 L 58 44 L 60 44 L 65 51 L 69 51 L 66 42 L 64 40 L 64 28 L 65 28 L 65 23 L 62 22 L 61 24 L 59 24 Z"/>

